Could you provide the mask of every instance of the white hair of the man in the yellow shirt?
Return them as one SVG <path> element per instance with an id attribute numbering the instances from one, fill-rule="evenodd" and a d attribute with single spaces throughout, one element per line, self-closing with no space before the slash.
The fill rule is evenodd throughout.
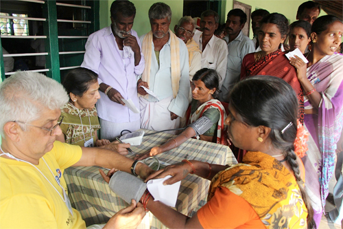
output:
<path id="1" fill-rule="evenodd" d="M 69 100 L 64 87 L 37 72 L 16 72 L 0 84 L 0 134 L 7 122 L 32 122 L 43 109 L 60 109 Z M 21 125 L 26 131 L 25 125 Z"/>

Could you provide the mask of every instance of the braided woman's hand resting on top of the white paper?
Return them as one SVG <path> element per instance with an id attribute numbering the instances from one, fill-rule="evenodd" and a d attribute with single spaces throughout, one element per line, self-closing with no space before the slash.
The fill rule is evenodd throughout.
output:
<path id="1" fill-rule="evenodd" d="M 144 182 L 147 182 L 149 179 L 158 179 L 166 177 L 167 175 L 171 175 L 171 178 L 165 180 L 163 184 L 174 184 L 187 177 L 188 173 L 190 173 L 191 171 L 193 171 L 193 169 L 191 168 L 191 166 L 189 166 L 189 164 L 185 162 L 179 162 L 177 164 L 171 164 L 159 171 L 156 171 L 155 173 L 152 173 L 152 175 L 147 177 Z"/>

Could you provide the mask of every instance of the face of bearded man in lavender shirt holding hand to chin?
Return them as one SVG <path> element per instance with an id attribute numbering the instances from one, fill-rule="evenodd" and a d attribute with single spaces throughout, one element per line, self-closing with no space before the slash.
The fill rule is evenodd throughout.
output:
<path id="1" fill-rule="evenodd" d="M 125 37 L 123 34 L 131 34 L 131 29 L 133 26 L 134 21 L 134 15 L 131 17 L 123 17 L 121 12 L 117 14 L 117 19 L 113 19 L 113 17 L 110 17 L 110 20 L 112 22 L 112 29 L 113 32 L 119 36 L 121 39 L 124 39 Z"/>

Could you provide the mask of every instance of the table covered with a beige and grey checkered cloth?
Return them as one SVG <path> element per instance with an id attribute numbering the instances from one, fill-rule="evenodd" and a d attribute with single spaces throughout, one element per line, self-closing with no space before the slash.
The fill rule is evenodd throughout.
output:
<path id="1" fill-rule="evenodd" d="M 145 134 L 154 131 L 144 130 Z M 167 142 L 175 135 L 169 133 L 156 133 L 143 137 L 140 146 L 132 146 L 134 153 L 145 153 L 154 146 Z M 133 155 L 128 155 L 133 157 Z M 237 160 L 228 146 L 189 139 L 176 149 L 156 156 L 158 160 L 174 164 L 183 159 L 200 160 L 211 164 L 236 164 Z M 106 223 L 115 212 L 128 206 L 123 199 L 115 195 L 108 184 L 99 174 L 97 166 L 71 167 L 64 171 L 71 205 L 80 211 L 86 225 Z M 104 170 L 104 168 L 102 168 Z M 105 172 L 106 173 L 106 172 Z M 191 217 L 200 207 L 206 204 L 209 180 L 196 175 L 187 175 L 182 180 L 176 201 L 176 210 Z M 151 212 L 144 217 L 138 228 L 166 228 Z"/>

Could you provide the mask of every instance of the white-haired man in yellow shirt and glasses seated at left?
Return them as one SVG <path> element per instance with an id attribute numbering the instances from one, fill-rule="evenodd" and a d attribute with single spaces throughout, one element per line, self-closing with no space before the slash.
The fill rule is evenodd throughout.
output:
<path id="1" fill-rule="evenodd" d="M 64 169 L 102 166 L 130 173 L 133 160 L 119 153 L 56 141 L 62 134 L 60 107 L 68 100 L 62 85 L 36 72 L 17 72 L 1 83 L 1 228 L 86 228 L 71 207 Z M 135 168 L 141 177 L 151 173 L 142 163 Z M 144 215 L 141 204 L 132 201 L 106 226 L 137 227 Z"/>

